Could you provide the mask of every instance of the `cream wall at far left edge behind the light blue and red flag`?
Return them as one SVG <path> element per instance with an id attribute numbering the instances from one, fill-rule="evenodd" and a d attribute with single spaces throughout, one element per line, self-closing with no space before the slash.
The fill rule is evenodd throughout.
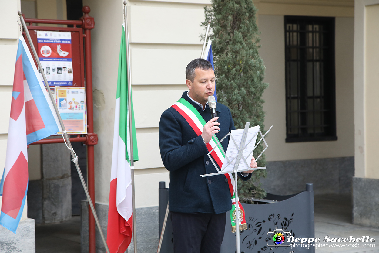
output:
<path id="1" fill-rule="evenodd" d="M 0 100 L 2 109 L 0 110 L 0 175 L 3 175 L 5 166 L 6 144 L 8 139 L 9 115 L 11 111 L 11 99 L 14 77 L 14 66 L 16 63 L 16 53 L 20 27 L 17 24 L 20 10 L 20 0 L 0 0 Z M 0 196 L 0 209 L 2 197 Z M 28 205 L 25 203 L 21 220 L 27 218 Z"/>

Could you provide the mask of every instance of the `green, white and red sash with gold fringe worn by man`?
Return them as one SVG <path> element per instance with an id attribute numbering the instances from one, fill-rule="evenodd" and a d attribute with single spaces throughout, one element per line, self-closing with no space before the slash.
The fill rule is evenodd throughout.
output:
<path id="1" fill-rule="evenodd" d="M 191 126 L 191 128 L 195 131 L 197 136 L 202 134 L 205 120 L 200 115 L 199 111 L 194 108 L 192 104 L 190 104 L 187 100 L 184 98 L 180 98 L 175 104 L 171 106 L 174 108 L 177 112 L 179 112 L 180 115 L 183 116 L 183 118 L 188 122 L 188 124 Z M 216 147 L 216 144 L 219 142 L 216 135 L 213 134 L 212 139 L 205 144 L 207 146 L 208 151 L 211 151 L 213 148 Z M 225 155 L 221 151 L 222 147 L 218 145 L 212 152 L 211 156 L 213 160 L 215 160 L 216 164 L 219 166 L 219 168 L 222 168 L 222 162 L 224 161 Z M 232 223 L 232 232 L 236 231 L 236 210 L 235 210 L 235 181 L 234 177 L 231 173 L 224 174 L 225 177 L 228 179 L 228 185 L 230 190 L 230 196 L 232 198 L 232 210 L 230 210 L 230 221 Z M 245 212 L 243 210 L 243 207 L 240 203 L 240 200 L 237 199 L 240 213 L 240 231 L 243 231 L 244 229 L 247 229 L 246 227 L 246 220 L 245 220 Z"/>

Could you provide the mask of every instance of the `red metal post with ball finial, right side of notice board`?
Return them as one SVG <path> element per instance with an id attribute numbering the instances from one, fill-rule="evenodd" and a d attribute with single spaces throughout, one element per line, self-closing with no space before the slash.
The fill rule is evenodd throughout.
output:
<path id="1" fill-rule="evenodd" d="M 81 17 L 83 22 L 83 29 L 85 34 L 85 62 L 86 62 L 86 98 L 87 98 L 87 129 L 88 134 L 94 132 L 94 119 L 93 119 L 93 102 L 92 102 L 92 57 L 91 57 L 91 29 L 94 28 L 95 21 L 88 13 L 91 9 L 88 6 L 83 6 L 84 16 Z M 88 191 L 91 196 L 92 203 L 95 206 L 95 163 L 94 163 L 94 146 L 93 144 L 87 145 L 87 163 L 88 163 Z M 88 244 L 89 253 L 96 251 L 96 237 L 95 237 L 95 218 L 88 206 Z"/>

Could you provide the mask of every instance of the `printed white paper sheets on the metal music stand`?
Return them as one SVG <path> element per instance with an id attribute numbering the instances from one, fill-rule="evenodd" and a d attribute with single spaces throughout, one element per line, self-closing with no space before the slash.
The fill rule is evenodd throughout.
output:
<path id="1" fill-rule="evenodd" d="M 232 134 L 234 140 L 236 141 L 238 147 L 234 144 L 232 138 L 229 140 L 228 144 L 228 149 L 226 150 L 226 156 L 229 158 L 230 161 L 233 160 L 238 155 L 238 149 L 241 145 L 241 140 L 242 140 L 242 134 L 243 134 L 244 129 L 236 129 L 232 130 L 230 133 Z M 254 149 L 255 142 L 257 141 L 257 136 L 259 133 L 259 126 L 253 126 L 249 128 L 249 131 L 247 132 L 247 138 L 245 142 L 245 149 L 243 150 L 243 157 L 246 159 L 247 164 L 250 165 L 251 158 L 253 153 L 251 152 Z M 250 141 L 251 140 L 251 141 Z M 250 141 L 250 142 L 249 142 Z M 247 144 L 249 142 L 249 144 Z M 250 155 L 249 155 L 250 153 Z M 236 164 L 236 159 L 235 158 L 232 163 L 230 163 L 228 166 L 227 164 L 229 163 L 228 160 L 225 158 L 223 163 L 222 163 L 222 170 L 226 168 L 226 171 L 232 171 L 235 164 Z M 244 160 L 241 158 L 240 164 L 238 166 L 238 169 L 247 169 L 249 167 L 246 166 L 246 163 Z"/>

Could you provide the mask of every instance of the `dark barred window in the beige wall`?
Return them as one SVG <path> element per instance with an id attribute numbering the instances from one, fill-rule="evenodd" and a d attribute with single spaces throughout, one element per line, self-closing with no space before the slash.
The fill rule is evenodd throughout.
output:
<path id="1" fill-rule="evenodd" d="M 334 17 L 285 16 L 286 142 L 337 140 Z"/>

